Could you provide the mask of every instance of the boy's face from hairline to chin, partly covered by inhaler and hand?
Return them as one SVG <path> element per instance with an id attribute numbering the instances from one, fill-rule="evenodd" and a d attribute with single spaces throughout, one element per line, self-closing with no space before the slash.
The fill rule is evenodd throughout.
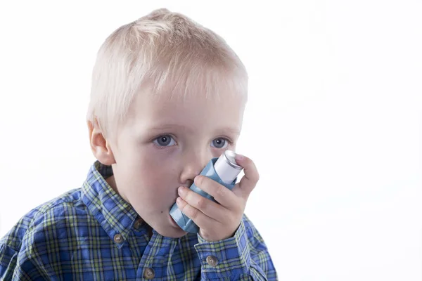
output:
<path id="1" fill-rule="evenodd" d="M 110 145 L 115 164 L 109 183 L 158 233 L 185 235 L 169 214 L 177 188 L 189 187 L 212 157 L 235 150 L 243 110 L 240 96 L 183 100 L 140 94 Z"/>

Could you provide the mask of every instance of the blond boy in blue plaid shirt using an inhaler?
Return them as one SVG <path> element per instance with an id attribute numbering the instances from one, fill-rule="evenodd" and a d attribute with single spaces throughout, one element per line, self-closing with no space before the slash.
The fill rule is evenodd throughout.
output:
<path id="1" fill-rule="evenodd" d="M 82 188 L 33 209 L 0 241 L 1 280 L 276 280 L 243 214 L 258 181 L 198 176 L 234 150 L 248 77 L 234 51 L 184 15 L 153 11 L 98 51 L 88 110 L 97 161 Z M 219 204 L 188 187 L 195 181 Z M 172 204 L 200 228 L 186 233 Z"/>

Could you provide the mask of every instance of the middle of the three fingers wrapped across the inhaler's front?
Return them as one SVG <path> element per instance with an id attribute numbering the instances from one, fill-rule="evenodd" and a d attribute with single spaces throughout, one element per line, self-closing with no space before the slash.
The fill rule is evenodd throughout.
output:
<path id="1" fill-rule="evenodd" d="M 212 202 L 202 195 L 199 195 L 198 193 L 183 186 L 179 188 L 179 196 L 187 204 L 203 212 L 205 216 L 215 219 L 215 221 L 221 222 L 228 213 L 228 210 L 222 205 Z"/>

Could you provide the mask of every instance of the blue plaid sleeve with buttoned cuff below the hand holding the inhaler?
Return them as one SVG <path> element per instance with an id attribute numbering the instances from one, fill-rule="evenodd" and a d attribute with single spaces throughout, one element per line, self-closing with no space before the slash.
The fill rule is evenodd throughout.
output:
<path id="1" fill-rule="evenodd" d="M 245 215 L 234 237 L 207 242 L 198 234 L 195 248 L 202 280 L 278 280 L 264 240 Z"/>

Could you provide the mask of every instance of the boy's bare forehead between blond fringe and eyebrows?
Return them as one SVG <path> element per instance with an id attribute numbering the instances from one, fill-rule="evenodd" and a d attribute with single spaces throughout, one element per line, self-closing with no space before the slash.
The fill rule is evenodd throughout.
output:
<path id="1" fill-rule="evenodd" d="M 136 126 L 181 125 L 191 130 L 227 127 L 241 130 L 244 101 L 238 95 L 205 97 L 204 95 L 166 96 L 139 93 L 131 108 Z"/>

